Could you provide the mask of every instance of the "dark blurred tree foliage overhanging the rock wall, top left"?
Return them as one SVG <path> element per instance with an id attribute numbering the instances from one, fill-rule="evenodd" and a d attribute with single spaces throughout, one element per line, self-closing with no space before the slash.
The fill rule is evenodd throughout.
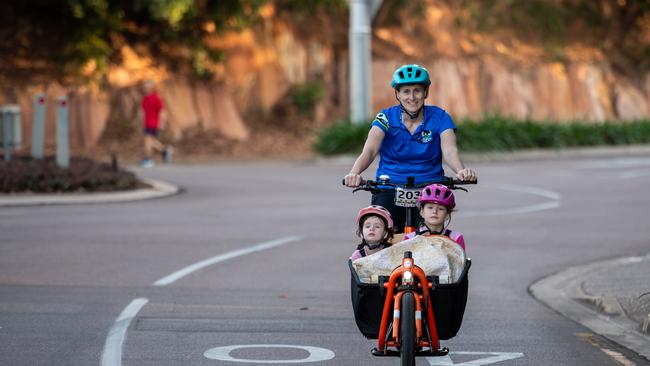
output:
<path id="1" fill-rule="evenodd" d="M 307 12 L 344 1 L 9 0 L 0 4 L 0 52 L 7 55 L 0 74 L 63 76 L 90 61 L 101 74 L 128 44 L 202 76 L 206 62 L 223 57 L 206 36 L 251 25 L 269 2 L 279 11 Z"/>

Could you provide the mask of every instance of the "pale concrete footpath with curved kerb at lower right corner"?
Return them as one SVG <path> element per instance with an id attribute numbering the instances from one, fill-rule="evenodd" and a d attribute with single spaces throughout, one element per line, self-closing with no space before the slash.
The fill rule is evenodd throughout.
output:
<path id="1" fill-rule="evenodd" d="M 650 253 L 572 267 L 529 290 L 560 314 L 650 360 Z"/>

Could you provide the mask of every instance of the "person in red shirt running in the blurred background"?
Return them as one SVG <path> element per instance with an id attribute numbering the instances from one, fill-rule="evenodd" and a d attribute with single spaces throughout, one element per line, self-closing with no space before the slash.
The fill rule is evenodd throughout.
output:
<path id="1" fill-rule="evenodd" d="M 151 154 L 153 150 L 162 153 L 163 161 L 171 161 L 171 147 L 163 145 L 158 140 L 161 112 L 164 103 L 156 91 L 156 84 L 152 80 L 144 83 L 145 95 L 142 98 L 142 111 L 144 113 L 144 160 L 143 167 L 153 167 L 155 165 Z"/>

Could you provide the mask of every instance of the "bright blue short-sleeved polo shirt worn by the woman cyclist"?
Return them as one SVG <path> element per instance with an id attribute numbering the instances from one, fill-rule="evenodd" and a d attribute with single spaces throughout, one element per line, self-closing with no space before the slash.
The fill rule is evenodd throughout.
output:
<path id="1" fill-rule="evenodd" d="M 382 174 L 390 181 L 405 184 L 414 177 L 415 184 L 439 181 L 444 175 L 440 134 L 456 130 L 451 116 L 442 108 L 424 106 L 424 119 L 413 134 L 402 123 L 399 105 L 384 109 L 372 121 L 372 126 L 384 131 L 384 141 L 379 149 L 377 178 Z"/>

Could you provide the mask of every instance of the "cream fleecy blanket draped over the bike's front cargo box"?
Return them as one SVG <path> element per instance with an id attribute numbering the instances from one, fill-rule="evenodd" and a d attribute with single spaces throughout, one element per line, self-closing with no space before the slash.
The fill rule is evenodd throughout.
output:
<path id="1" fill-rule="evenodd" d="M 378 276 L 389 276 L 402 264 L 404 252 L 411 251 L 415 265 L 427 276 L 438 276 L 440 283 L 460 279 L 465 266 L 463 249 L 445 236 L 415 236 L 352 262 L 362 283 L 378 283 Z"/>

